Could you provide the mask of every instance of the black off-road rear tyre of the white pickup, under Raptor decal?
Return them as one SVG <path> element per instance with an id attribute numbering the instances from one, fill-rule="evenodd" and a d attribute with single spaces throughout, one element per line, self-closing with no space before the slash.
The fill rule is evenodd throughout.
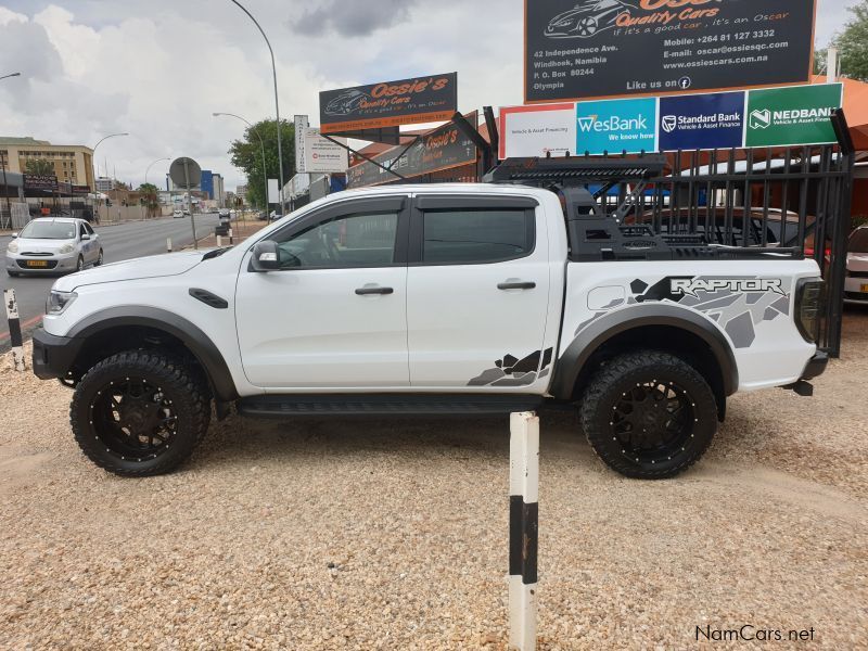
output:
<path id="1" fill-rule="evenodd" d="M 639 396 L 643 392 L 653 395 L 644 398 L 646 401 L 630 403 L 636 395 L 633 392 L 638 392 Z M 672 399 L 666 397 L 669 395 Z M 665 411 L 653 412 L 656 409 L 653 396 L 664 396 L 662 400 L 666 405 L 681 405 L 687 412 L 681 409 L 675 412 L 679 413 L 680 422 L 675 427 L 677 434 L 673 434 L 676 439 L 664 442 L 646 454 L 644 449 L 625 443 L 625 434 L 617 427 L 633 424 L 620 410 L 626 400 L 628 405 L 636 405 L 633 408 L 637 414 L 643 409 L 652 412 L 648 416 L 651 421 L 659 418 L 672 423 Z M 666 405 L 664 410 L 668 409 Z M 675 355 L 647 349 L 625 353 L 602 366 L 588 383 L 579 406 L 582 429 L 600 459 L 615 472 L 641 480 L 673 477 L 695 463 L 714 438 L 717 413 L 714 392 L 699 371 Z M 638 420 L 639 417 L 628 418 Z M 664 431 L 650 421 L 648 426 L 653 432 Z M 653 432 L 651 436 L 655 435 Z M 669 433 L 666 431 L 665 435 Z M 631 442 L 631 434 L 627 436 Z M 637 433 L 637 436 L 646 435 Z M 640 449 L 638 454 L 637 449 Z"/>

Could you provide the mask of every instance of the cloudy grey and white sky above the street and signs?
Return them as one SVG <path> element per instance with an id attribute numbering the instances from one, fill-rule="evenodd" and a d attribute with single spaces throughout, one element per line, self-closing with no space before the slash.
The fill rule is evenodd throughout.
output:
<path id="1" fill-rule="evenodd" d="M 318 92 L 458 71 L 462 111 L 522 101 L 522 0 L 245 0 L 275 48 L 281 115 L 317 115 Z M 826 44 L 855 0 L 819 0 Z M 92 146 L 136 186 L 188 155 L 244 182 L 227 149 L 272 117 L 268 51 L 229 0 L 0 0 L 0 135 Z M 316 119 L 312 120 L 316 123 Z M 152 168 L 162 178 L 167 164 Z M 102 170 L 101 170 L 102 171 Z"/>

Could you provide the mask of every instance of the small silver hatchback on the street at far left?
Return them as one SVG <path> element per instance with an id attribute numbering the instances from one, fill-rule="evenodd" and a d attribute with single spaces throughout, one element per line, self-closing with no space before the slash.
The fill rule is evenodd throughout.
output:
<path id="1" fill-rule="evenodd" d="M 103 261 L 102 243 L 84 219 L 34 219 L 7 247 L 7 273 L 72 273 Z"/>

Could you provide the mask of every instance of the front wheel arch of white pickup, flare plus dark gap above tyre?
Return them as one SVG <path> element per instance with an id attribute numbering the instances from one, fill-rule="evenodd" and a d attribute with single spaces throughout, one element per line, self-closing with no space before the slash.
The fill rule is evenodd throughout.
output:
<path id="1" fill-rule="evenodd" d="M 131 340 L 128 344 L 125 335 Z M 182 346 L 199 362 L 218 400 L 239 397 L 229 366 L 210 337 L 194 323 L 167 310 L 146 306 L 112 307 L 82 319 L 67 336 L 82 342 L 73 362 L 79 369 L 87 366 L 88 358 L 94 354 L 106 357 L 120 349 L 158 343 L 165 337 L 164 343 L 170 347 Z"/>

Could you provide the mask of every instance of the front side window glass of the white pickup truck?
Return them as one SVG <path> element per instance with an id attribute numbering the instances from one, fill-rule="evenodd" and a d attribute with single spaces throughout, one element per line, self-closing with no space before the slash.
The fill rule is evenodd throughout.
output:
<path id="1" fill-rule="evenodd" d="M 335 217 L 278 240 L 283 269 L 388 267 L 395 260 L 397 213 Z"/>

